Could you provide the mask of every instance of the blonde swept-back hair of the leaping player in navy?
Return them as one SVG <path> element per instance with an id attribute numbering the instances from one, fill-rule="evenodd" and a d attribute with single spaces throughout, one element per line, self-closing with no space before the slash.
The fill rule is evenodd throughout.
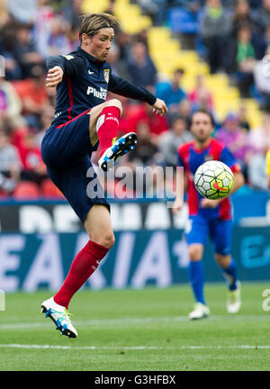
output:
<path id="1" fill-rule="evenodd" d="M 94 34 L 102 28 L 112 28 L 115 30 L 117 27 L 117 18 L 112 14 L 84 14 L 82 15 L 82 23 L 79 32 L 80 41 L 82 41 L 83 33 L 94 36 Z"/>

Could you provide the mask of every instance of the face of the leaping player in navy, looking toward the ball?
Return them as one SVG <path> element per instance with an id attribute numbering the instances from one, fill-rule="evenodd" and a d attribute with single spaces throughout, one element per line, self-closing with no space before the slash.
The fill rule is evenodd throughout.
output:
<path id="1" fill-rule="evenodd" d="M 106 60 L 109 50 L 112 47 L 114 31 L 112 28 L 100 29 L 93 37 L 90 38 L 88 50 L 89 53 L 98 60 Z"/>

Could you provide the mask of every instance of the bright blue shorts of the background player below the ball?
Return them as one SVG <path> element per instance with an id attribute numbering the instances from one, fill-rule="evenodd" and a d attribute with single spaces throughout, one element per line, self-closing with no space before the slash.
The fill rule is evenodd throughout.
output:
<path id="1" fill-rule="evenodd" d="M 206 244 L 208 237 L 214 245 L 214 252 L 220 255 L 229 255 L 231 252 L 232 221 L 210 219 L 201 215 L 190 216 L 190 225 L 185 231 L 187 244 Z"/>

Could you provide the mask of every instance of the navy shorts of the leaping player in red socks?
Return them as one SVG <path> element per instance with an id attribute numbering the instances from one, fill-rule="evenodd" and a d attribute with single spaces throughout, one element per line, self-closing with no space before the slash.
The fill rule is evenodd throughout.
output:
<path id="1" fill-rule="evenodd" d="M 82 223 L 94 204 L 103 204 L 110 211 L 90 160 L 97 143 L 92 146 L 90 142 L 89 120 L 90 114 L 86 112 L 69 122 L 52 125 L 41 143 L 49 178 L 65 195 Z"/>

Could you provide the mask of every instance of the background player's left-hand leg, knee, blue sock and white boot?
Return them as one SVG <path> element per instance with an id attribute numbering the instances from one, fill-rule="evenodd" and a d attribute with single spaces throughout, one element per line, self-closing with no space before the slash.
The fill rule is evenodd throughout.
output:
<path id="1" fill-rule="evenodd" d="M 204 272 L 202 266 L 203 245 L 200 243 L 193 243 L 188 247 L 189 251 L 189 267 L 188 276 L 193 289 L 195 305 L 192 312 L 189 313 L 189 318 L 203 319 L 210 314 L 210 310 L 204 299 Z"/>

